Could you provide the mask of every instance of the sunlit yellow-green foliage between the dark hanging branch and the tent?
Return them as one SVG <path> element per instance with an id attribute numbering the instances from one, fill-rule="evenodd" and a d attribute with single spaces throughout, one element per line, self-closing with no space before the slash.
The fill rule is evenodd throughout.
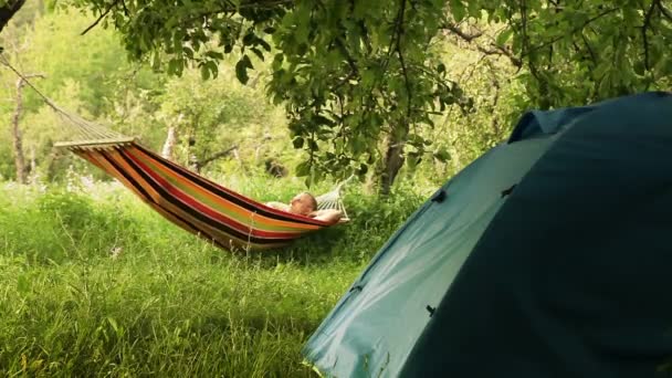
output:
<path id="1" fill-rule="evenodd" d="M 494 33 L 496 28 L 485 30 Z M 482 31 L 483 32 L 483 31 Z M 472 43 L 445 34 L 441 59 L 449 77 L 455 77 L 469 93 L 468 112 L 459 105 L 448 106 L 433 117 L 435 126 L 421 130 L 432 140 L 424 154 L 407 156 L 401 178 L 419 187 L 443 185 L 487 149 L 505 140 L 521 114 L 527 111 L 525 87 L 515 80 L 516 67 L 498 54 L 483 54 Z"/>

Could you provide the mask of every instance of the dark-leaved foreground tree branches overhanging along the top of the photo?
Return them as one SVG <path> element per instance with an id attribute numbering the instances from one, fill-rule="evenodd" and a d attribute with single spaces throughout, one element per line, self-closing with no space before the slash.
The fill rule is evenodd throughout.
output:
<path id="1" fill-rule="evenodd" d="M 190 63 L 217 76 L 237 52 L 245 83 L 253 59 L 272 59 L 269 94 L 284 103 L 298 174 L 364 175 L 377 167 L 381 192 L 408 154 L 430 145 L 432 115 L 465 105 L 437 59 L 448 31 L 508 57 L 531 106 L 585 104 L 670 84 L 669 0 L 72 0 L 111 24 L 127 51 L 180 74 Z M 95 24 L 94 23 L 94 24 Z M 465 27 L 503 24 L 492 40 Z M 276 51 L 272 52 L 272 45 Z"/>

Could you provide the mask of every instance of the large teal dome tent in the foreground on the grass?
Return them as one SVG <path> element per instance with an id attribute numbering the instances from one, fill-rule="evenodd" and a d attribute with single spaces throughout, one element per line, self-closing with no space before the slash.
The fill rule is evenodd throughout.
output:
<path id="1" fill-rule="evenodd" d="M 336 377 L 669 377 L 672 95 L 525 114 L 308 339 Z"/>

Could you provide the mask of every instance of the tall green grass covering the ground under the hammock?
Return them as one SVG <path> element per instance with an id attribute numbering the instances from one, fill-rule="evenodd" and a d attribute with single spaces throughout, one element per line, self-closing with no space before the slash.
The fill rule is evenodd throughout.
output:
<path id="1" fill-rule="evenodd" d="M 260 200 L 301 190 L 288 179 L 223 183 Z M 313 376 L 303 344 L 420 201 L 380 202 L 355 186 L 351 223 L 229 253 L 115 185 L 0 183 L 0 375 Z"/>

